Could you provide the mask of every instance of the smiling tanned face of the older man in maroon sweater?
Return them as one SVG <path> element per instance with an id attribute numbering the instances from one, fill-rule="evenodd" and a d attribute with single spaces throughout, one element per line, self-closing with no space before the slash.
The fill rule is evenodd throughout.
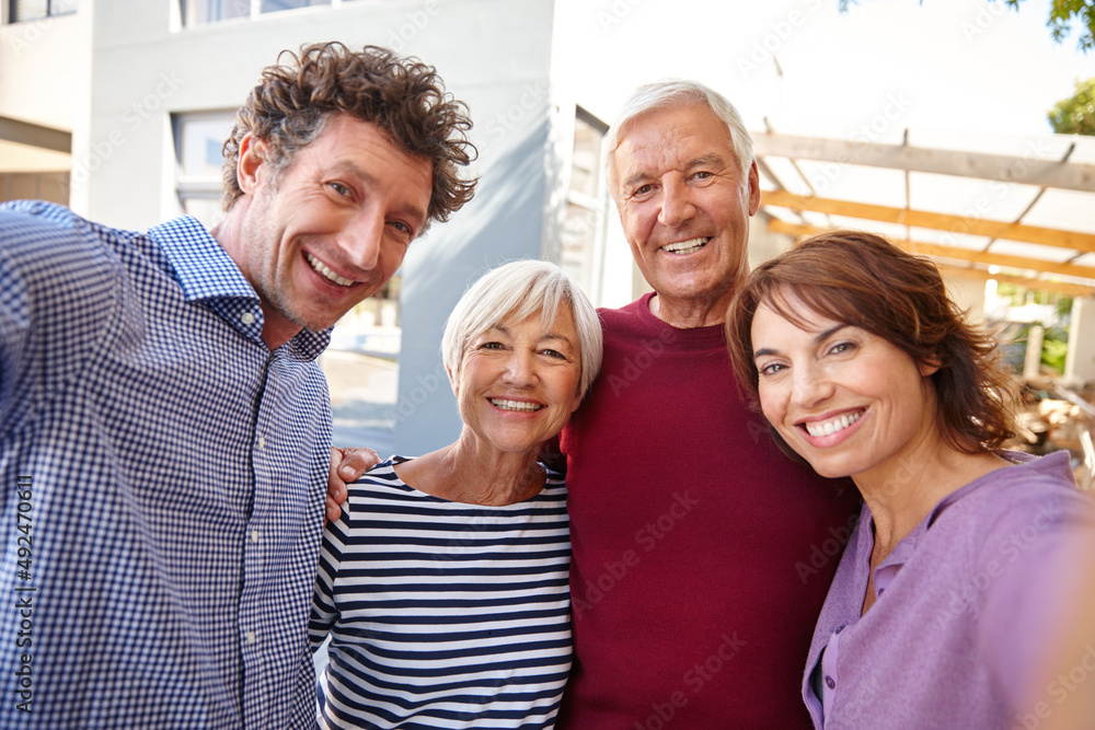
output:
<path id="1" fill-rule="evenodd" d="M 748 266 L 756 163 L 741 173 L 726 125 L 705 104 L 633 119 L 614 154 L 613 194 L 643 276 L 664 299 L 725 309 Z"/>

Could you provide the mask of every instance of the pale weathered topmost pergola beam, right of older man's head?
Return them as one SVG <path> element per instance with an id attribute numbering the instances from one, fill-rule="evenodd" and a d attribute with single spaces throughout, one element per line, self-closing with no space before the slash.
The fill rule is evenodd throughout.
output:
<path id="1" fill-rule="evenodd" d="M 1049 150 L 1039 149 L 1035 141 L 1027 147 L 1029 154 L 1011 157 L 794 135 L 753 135 L 757 157 L 771 154 L 1095 193 L 1095 165 L 1047 160 Z"/>

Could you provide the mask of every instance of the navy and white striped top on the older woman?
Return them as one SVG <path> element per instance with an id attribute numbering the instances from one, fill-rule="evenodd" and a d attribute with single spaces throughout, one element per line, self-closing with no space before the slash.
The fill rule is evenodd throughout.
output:
<path id="1" fill-rule="evenodd" d="M 323 536 L 309 634 L 331 635 L 323 728 L 552 728 L 570 669 L 566 485 L 483 507 L 393 456 Z"/>

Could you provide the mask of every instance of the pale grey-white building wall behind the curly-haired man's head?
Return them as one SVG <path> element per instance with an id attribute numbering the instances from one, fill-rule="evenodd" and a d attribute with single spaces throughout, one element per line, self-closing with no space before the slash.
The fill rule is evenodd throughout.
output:
<path id="1" fill-rule="evenodd" d="M 142 229 L 180 212 L 170 115 L 235 108 L 281 49 L 374 44 L 436 66 L 475 121 L 481 183 L 403 265 L 394 447 L 424 453 L 460 428 L 438 354 L 452 305 L 486 268 L 543 252 L 552 23 L 553 0 L 360 0 L 182 28 L 176 0 L 96 0 L 87 173 L 73 182 L 90 218 Z"/>

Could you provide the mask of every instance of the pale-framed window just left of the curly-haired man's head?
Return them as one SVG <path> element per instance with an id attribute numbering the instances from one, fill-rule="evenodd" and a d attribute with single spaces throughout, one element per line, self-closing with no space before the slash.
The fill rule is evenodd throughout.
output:
<path id="1" fill-rule="evenodd" d="M 175 181 L 178 205 L 206 227 L 224 217 L 220 207 L 221 148 L 232 130 L 234 112 L 176 114 L 171 126 L 175 138 Z"/>

